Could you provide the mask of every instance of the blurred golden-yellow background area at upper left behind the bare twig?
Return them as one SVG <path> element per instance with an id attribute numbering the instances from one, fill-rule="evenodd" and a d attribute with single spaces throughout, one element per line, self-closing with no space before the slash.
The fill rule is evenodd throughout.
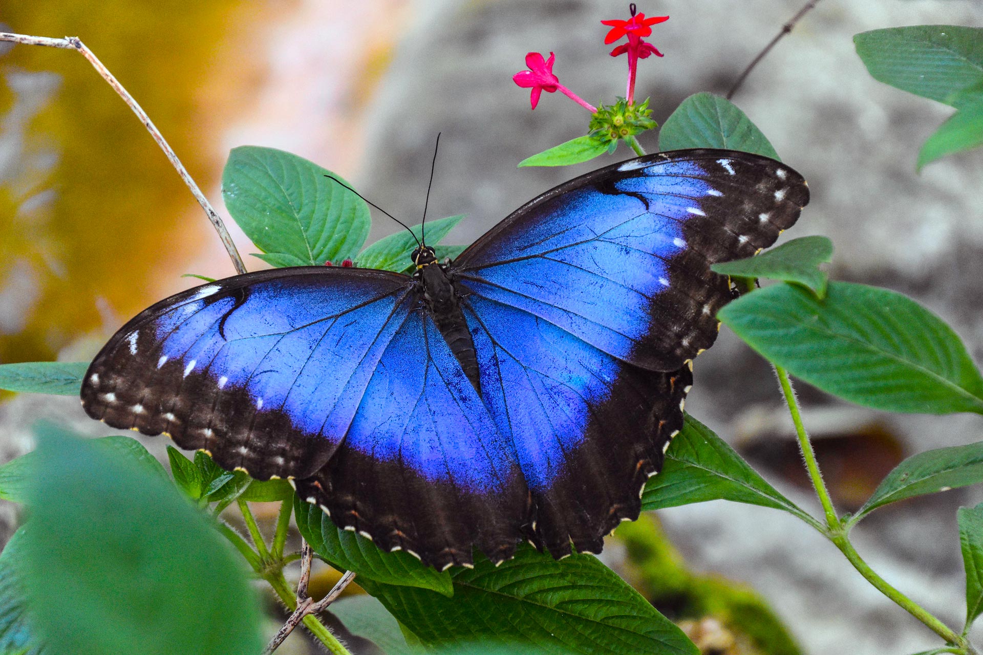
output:
<path id="1" fill-rule="evenodd" d="M 214 190 L 222 163 L 220 126 L 260 77 L 251 57 L 253 30 L 283 3 L 4 4 L 0 20 L 13 31 L 82 37 L 141 103 L 202 189 Z M 58 155 L 43 182 L 55 191 L 44 220 L 32 222 L 23 210 L 18 216 L 24 198 L 0 188 L 0 288 L 15 262 L 27 261 L 36 295 L 15 329 L 0 330 L 0 362 L 50 359 L 87 333 L 108 334 L 158 300 L 160 276 L 184 272 L 183 262 L 208 227 L 144 126 L 77 53 L 17 46 L 0 58 L 0 68 L 61 79 L 27 132 L 29 141 Z M 0 116 L 13 99 L 9 88 L 0 92 Z"/>

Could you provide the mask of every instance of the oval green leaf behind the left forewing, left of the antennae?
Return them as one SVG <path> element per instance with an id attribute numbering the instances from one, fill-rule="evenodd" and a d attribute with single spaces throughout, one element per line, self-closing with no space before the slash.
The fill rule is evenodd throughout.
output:
<path id="1" fill-rule="evenodd" d="M 244 145 L 229 154 L 222 197 L 263 252 L 290 254 L 319 266 L 354 257 L 371 227 L 369 205 L 325 175 L 342 180 L 303 157 Z"/>

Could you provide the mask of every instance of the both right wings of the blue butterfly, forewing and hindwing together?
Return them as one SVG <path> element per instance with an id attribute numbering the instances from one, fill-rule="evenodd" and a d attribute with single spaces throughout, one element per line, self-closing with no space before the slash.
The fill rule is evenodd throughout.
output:
<path id="1" fill-rule="evenodd" d="M 553 555 L 635 519 L 682 425 L 691 358 L 730 299 L 710 265 L 771 246 L 808 201 L 780 162 L 726 150 L 640 157 L 524 205 L 465 250 L 482 392 L 510 436 Z"/>

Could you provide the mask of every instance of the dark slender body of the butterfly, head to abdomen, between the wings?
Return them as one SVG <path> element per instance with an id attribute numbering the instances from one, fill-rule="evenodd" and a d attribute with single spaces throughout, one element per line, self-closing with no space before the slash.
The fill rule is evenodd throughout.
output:
<path id="1" fill-rule="evenodd" d="M 413 277 L 420 283 L 424 307 L 434 319 L 434 324 L 447 342 L 450 352 L 460 362 L 465 375 L 480 392 L 478 355 L 461 309 L 461 290 L 447 276 L 446 264 L 437 263 L 433 248 L 424 246 L 414 250 L 413 259 L 417 265 Z"/>

